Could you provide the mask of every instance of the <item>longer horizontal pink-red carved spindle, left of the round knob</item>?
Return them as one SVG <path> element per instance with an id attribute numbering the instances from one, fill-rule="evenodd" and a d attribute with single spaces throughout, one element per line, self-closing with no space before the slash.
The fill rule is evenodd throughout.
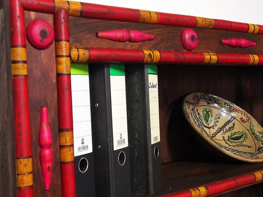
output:
<path id="1" fill-rule="evenodd" d="M 136 30 L 111 30 L 107 32 L 97 32 L 97 37 L 117 42 L 143 42 L 154 39 L 154 35 Z"/>

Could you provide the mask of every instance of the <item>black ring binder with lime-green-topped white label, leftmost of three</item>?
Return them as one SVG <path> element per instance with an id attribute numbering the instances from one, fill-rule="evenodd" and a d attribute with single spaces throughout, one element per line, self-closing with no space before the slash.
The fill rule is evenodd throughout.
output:
<path id="1" fill-rule="evenodd" d="M 71 63 L 76 197 L 95 197 L 87 64 Z"/>

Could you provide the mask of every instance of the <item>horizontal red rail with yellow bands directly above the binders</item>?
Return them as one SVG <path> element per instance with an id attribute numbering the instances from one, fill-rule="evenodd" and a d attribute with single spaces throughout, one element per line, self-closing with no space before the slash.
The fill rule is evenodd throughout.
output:
<path id="1" fill-rule="evenodd" d="M 71 60 L 89 63 L 263 65 L 263 55 L 76 47 L 71 48 Z"/>

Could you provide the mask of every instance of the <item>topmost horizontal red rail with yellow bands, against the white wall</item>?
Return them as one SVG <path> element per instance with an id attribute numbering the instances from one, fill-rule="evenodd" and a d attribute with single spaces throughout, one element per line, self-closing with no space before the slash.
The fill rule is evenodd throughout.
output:
<path id="1" fill-rule="evenodd" d="M 50 14 L 65 9 L 70 16 L 75 17 L 263 34 L 261 25 L 219 19 L 66 0 L 21 0 L 21 2 L 26 10 Z"/>

